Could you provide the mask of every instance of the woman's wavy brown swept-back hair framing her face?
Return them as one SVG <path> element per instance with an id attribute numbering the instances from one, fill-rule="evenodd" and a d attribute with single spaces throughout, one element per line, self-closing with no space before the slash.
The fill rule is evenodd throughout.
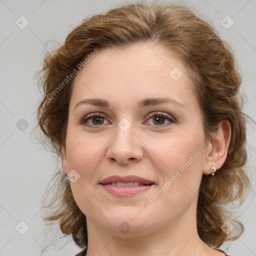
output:
<path id="1" fill-rule="evenodd" d="M 241 76 L 234 54 L 217 31 L 184 4 L 132 3 L 83 19 L 56 50 L 45 55 L 38 72 L 43 98 L 37 109 L 38 125 L 44 140 L 57 156 L 65 148 L 68 106 L 73 78 L 60 83 L 91 52 L 108 47 L 125 48 L 138 43 L 159 45 L 178 56 L 187 67 L 193 90 L 200 105 L 205 137 L 218 131 L 222 120 L 231 124 L 227 157 L 214 176 L 202 174 L 197 204 L 197 231 L 200 239 L 212 248 L 237 239 L 243 224 L 232 218 L 229 203 L 240 205 L 250 186 L 245 172 L 246 122 L 239 95 Z M 85 67 L 86 68 L 86 67 Z M 63 83 L 62 83 L 63 85 Z M 53 185 L 47 188 L 44 217 L 58 223 L 64 235 L 72 235 L 79 247 L 87 246 L 86 216 L 74 201 L 70 183 L 63 171 L 55 172 Z M 57 184 L 57 186 L 56 186 Z M 51 191 L 52 189 L 52 191 Z M 54 191 L 53 191 L 54 190 Z M 48 198 L 48 200 L 46 200 Z M 221 225 L 228 220 L 238 226 L 227 234 Z"/>

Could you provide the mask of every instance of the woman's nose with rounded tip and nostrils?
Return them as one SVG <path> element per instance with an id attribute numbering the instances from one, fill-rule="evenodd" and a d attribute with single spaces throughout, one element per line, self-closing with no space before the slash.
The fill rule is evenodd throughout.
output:
<path id="1" fill-rule="evenodd" d="M 106 157 L 110 162 L 116 161 L 121 164 L 134 163 L 142 159 L 143 143 L 134 133 L 132 126 L 126 131 L 116 127 L 116 134 L 110 140 Z"/>

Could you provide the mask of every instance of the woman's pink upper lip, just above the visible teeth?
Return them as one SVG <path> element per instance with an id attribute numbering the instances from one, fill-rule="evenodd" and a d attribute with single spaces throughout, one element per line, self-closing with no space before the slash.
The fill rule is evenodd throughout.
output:
<path id="1" fill-rule="evenodd" d="M 153 181 L 139 177 L 139 176 L 134 176 L 134 175 L 128 175 L 128 176 L 118 176 L 118 175 L 114 175 L 114 176 L 109 176 L 103 180 L 101 180 L 99 183 L 102 185 L 106 185 L 106 184 L 111 184 L 112 182 L 116 182 L 118 186 L 126 186 L 123 183 L 131 183 L 131 182 L 138 182 L 138 185 L 150 185 L 150 184 L 154 184 Z M 143 184 L 141 184 L 143 183 Z M 136 183 L 133 183 L 136 184 Z M 128 185 L 127 185 L 128 186 Z"/>

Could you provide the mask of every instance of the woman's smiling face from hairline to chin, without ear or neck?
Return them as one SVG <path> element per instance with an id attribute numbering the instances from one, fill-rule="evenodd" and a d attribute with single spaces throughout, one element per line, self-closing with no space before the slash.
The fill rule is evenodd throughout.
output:
<path id="1" fill-rule="evenodd" d="M 62 165 L 88 225 L 127 236 L 195 221 L 210 166 L 186 71 L 141 44 L 99 50 L 75 76 Z"/>

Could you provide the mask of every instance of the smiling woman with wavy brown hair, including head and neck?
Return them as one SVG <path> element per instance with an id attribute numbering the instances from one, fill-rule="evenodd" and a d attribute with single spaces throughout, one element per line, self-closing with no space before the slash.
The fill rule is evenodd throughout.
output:
<path id="1" fill-rule="evenodd" d="M 228 255 L 247 116 L 231 49 L 206 21 L 123 5 L 84 19 L 40 74 L 38 122 L 62 162 L 45 219 L 77 255 Z"/>

